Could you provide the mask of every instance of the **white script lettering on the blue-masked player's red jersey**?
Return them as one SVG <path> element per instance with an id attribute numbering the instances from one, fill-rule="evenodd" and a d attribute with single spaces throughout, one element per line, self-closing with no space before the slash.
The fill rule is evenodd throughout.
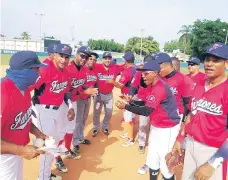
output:
<path id="1" fill-rule="evenodd" d="M 23 112 L 20 112 L 14 118 L 14 123 L 10 126 L 11 130 L 21 130 L 29 123 L 32 115 L 32 107 L 30 106 L 28 110 L 23 115 Z"/>

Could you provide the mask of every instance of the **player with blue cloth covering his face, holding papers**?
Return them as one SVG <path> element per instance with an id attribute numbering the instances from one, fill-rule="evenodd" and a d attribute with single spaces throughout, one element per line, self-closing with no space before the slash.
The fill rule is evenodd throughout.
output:
<path id="1" fill-rule="evenodd" d="M 29 133 L 47 138 L 31 121 L 31 95 L 42 64 L 33 51 L 20 51 L 10 58 L 6 76 L 1 78 L 0 179 L 22 180 L 23 158 L 30 160 L 41 151 L 28 145 Z"/>

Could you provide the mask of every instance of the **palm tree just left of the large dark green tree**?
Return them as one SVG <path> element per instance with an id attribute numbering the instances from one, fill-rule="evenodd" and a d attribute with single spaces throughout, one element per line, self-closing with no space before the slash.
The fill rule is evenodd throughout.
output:
<path id="1" fill-rule="evenodd" d="M 181 34 L 179 38 L 179 42 L 184 45 L 184 53 L 186 51 L 187 45 L 190 42 L 190 37 L 191 37 L 191 32 L 192 32 L 192 26 L 186 26 L 183 25 L 181 27 L 181 30 L 177 34 Z"/>

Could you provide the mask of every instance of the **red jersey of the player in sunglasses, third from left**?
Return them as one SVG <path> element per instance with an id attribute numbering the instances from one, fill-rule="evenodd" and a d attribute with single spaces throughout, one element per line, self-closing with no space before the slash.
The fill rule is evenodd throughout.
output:
<path id="1" fill-rule="evenodd" d="M 77 101 L 80 97 L 80 92 L 82 91 L 82 87 L 86 82 L 86 73 L 82 67 L 80 68 L 80 70 L 78 70 L 74 62 L 71 62 L 66 69 L 69 73 L 71 81 L 71 100 L 74 102 Z"/>

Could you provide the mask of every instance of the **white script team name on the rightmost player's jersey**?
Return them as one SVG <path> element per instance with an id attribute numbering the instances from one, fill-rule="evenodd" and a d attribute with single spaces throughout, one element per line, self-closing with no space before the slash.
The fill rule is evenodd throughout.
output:
<path id="1" fill-rule="evenodd" d="M 221 115 L 223 114 L 222 105 L 217 105 L 215 103 L 206 101 L 204 99 L 200 99 L 198 101 L 194 102 L 194 99 L 192 99 L 192 113 L 196 114 L 197 110 L 206 112 L 208 114 L 213 115 Z"/>

